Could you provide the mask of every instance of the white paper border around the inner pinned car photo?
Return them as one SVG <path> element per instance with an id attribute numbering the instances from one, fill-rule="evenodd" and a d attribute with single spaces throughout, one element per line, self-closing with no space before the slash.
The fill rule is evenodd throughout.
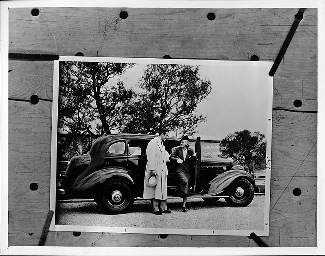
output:
<path id="1" fill-rule="evenodd" d="M 60 61 L 80 61 L 80 62 L 116 62 L 116 63 L 136 63 L 136 64 L 189 64 L 198 66 L 222 66 L 223 67 L 248 67 L 265 68 L 269 71 L 273 62 L 266 61 L 221 61 L 221 60 L 192 60 L 192 59 L 155 59 L 155 58 L 114 58 L 114 57 L 84 57 L 84 56 L 62 56 L 59 60 L 54 60 L 53 72 L 53 110 L 52 110 L 52 154 L 51 154 L 51 188 L 50 188 L 50 210 L 54 211 L 50 231 L 78 231 L 78 232 L 110 232 L 110 233 L 141 233 L 141 234 L 185 234 L 185 235 L 236 235 L 249 236 L 255 233 L 257 236 L 269 235 L 269 211 L 270 211 L 270 176 L 271 176 L 271 142 L 272 142 L 272 104 L 273 104 L 273 77 L 266 74 L 258 74 L 268 80 L 267 86 L 267 118 L 266 124 L 266 157 L 269 162 L 266 166 L 265 179 L 265 199 L 264 199 L 264 225 L 263 230 L 193 230 L 193 229 L 170 229 L 170 228 L 134 228 L 134 227 L 103 227 L 103 226 L 76 226 L 76 225 L 56 225 L 55 205 L 56 205 L 56 163 L 57 163 L 57 127 L 58 124 L 58 99 L 59 99 L 59 62 Z M 239 78 L 240 79 L 240 78 Z M 248 85 L 247 85 L 248 86 Z M 148 213 L 149 214 L 149 213 Z"/>

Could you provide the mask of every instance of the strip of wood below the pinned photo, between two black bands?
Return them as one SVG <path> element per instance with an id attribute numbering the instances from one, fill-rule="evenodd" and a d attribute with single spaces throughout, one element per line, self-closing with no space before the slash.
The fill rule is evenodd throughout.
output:
<path id="1" fill-rule="evenodd" d="M 236 241 L 236 242 L 233 242 Z M 45 246 L 88 246 L 92 247 L 258 247 L 245 236 L 202 236 L 158 234 L 87 233 L 73 236 L 72 232 L 50 232 Z"/>

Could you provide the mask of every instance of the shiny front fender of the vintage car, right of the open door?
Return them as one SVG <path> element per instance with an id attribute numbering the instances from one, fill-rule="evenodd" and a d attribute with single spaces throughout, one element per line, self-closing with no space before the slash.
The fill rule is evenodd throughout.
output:
<path id="1" fill-rule="evenodd" d="M 210 181 L 208 194 L 222 193 L 237 178 L 245 178 L 255 187 L 255 181 L 249 173 L 242 170 L 230 170 L 221 173 Z"/>

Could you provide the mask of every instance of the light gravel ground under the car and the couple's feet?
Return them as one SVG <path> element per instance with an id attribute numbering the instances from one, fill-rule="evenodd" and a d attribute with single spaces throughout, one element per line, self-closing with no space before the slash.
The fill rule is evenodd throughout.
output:
<path id="1" fill-rule="evenodd" d="M 150 213 L 150 201 L 138 200 L 131 212 L 106 215 L 95 202 L 57 203 L 56 224 L 105 227 L 172 228 L 203 230 L 263 230 L 264 195 L 255 195 L 247 207 L 228 207 L 224 199 L 209 205 L 203 199 L 189 198 L 187 213 L 182 199 L 168 199 L 171 214 Z"/>

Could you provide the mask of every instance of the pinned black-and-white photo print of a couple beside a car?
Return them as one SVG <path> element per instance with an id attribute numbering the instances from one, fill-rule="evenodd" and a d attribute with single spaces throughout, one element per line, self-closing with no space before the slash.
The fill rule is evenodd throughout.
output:
<path id="1" fill-rule="evenodd" d="M 51 230 L 267 236 L 271 64 L 60 57 Z"/>

